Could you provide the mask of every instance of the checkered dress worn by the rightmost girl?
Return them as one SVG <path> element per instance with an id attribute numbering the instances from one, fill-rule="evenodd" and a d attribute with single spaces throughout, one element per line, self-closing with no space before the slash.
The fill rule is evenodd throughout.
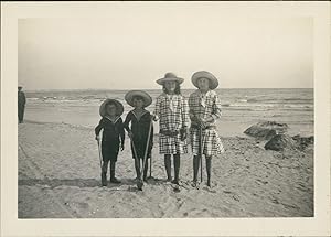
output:
<path id="1" fill-rule="evenodd" d="M 221 100 L 214 90 L 209 90 L 204 96 L 199 89 L 195 90 L 190 95 L 189 106 L 190 118 L 194 116 L 204 119 L 213 117 L 214 121 L 209 122 L 207 126 L 216 126 L 216 119 L 221 118 Z M 192 121 L 192 126 L 194 125 Z M 200 154 L 200 129 L 191 127 L 190 136 L 193 155 L 197 155 Z M 202 130 L 202 148 L 203 154 L 207 157 L 224 152 L 223 143 L 215 128 Z"/>

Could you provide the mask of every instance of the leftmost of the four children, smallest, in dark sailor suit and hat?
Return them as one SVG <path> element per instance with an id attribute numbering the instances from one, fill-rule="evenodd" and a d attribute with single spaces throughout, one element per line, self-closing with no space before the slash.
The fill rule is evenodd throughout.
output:
<path id="1" fill-rule="evenodd" d="M 116 99 L 106 99 L 99 109 L 99 114 L 103 117 L 95 128 L 96 140 L 99 142 L 99 132 L 103 131 L 102 140 L 102 184 L 107 186 L 107 169 L 110 161 L 110 183 L 120 183 L 115 177 L 115 168 L 118 157 L 119 147 L 124 150 L 125 143 L 125 130 L 122 119 L 120 116 L 124 112 L 124 106 Z"/>

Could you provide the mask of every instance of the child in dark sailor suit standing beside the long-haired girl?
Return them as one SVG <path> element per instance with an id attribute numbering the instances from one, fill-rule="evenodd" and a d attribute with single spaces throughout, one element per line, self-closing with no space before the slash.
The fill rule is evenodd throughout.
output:
<path id="1" fill-rule="evenodd" d="M 124 127 L 131 139 L 131 152 L 132 158 L 135 159 L 135 169 L 137 174 L 136 180 L 139 180 L 141 176 L 140 166 L 142 165 L 145 155 L 147 155 L 143 169 L 143 181 L 146 182 L 148 159 L 151 157 L 151 149 L 153 147 L 153 128 L 151 127 L 151 131 L 149 132 L 152 119 L 150 112 L 145 108 L 150 106 L 150 104 L 152 103 L 152 98 L 146 91 L 130 90 L 126 94 L 125 99 L 130 106 L 134 107 L 134 109 L 128 112 L 124 122 Z M 150 137 L 148 139 L 149 134 Z M 149 144 L 147 149 L 148 140 Z"/>

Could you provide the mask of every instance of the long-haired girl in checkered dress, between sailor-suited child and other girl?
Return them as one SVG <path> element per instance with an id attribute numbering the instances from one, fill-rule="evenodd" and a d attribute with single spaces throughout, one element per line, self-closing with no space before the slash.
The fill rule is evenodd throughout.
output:
<path id="1" fill-rule="evenodd" d="M 160 125 L 160 154 L 164 154 L 164 165 L 168 181 L 179 184 L 180 155 L 188 153 L 186 136 L 189 106 L 181 95 L 180 84 L 184 79 L 173 73 L 167 73 L 157 83 L 163 87 L 163 93 L 157 98 L 154 120 Z M 174 180 L 171 176 L 171 155 L 174 163 Z"/>

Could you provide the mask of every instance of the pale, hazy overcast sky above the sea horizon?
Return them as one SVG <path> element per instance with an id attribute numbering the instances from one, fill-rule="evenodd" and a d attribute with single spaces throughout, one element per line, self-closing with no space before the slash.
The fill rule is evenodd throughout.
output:
<path id="1" fill-rule="evenodd" d="M 310 18 L 245 18 L 222 6 L 109 8 L 107 18 L 19 20 L 25 89 L 159 88 L 167 72 L 206 69 L 221 88 L 313 86 Z"/>

